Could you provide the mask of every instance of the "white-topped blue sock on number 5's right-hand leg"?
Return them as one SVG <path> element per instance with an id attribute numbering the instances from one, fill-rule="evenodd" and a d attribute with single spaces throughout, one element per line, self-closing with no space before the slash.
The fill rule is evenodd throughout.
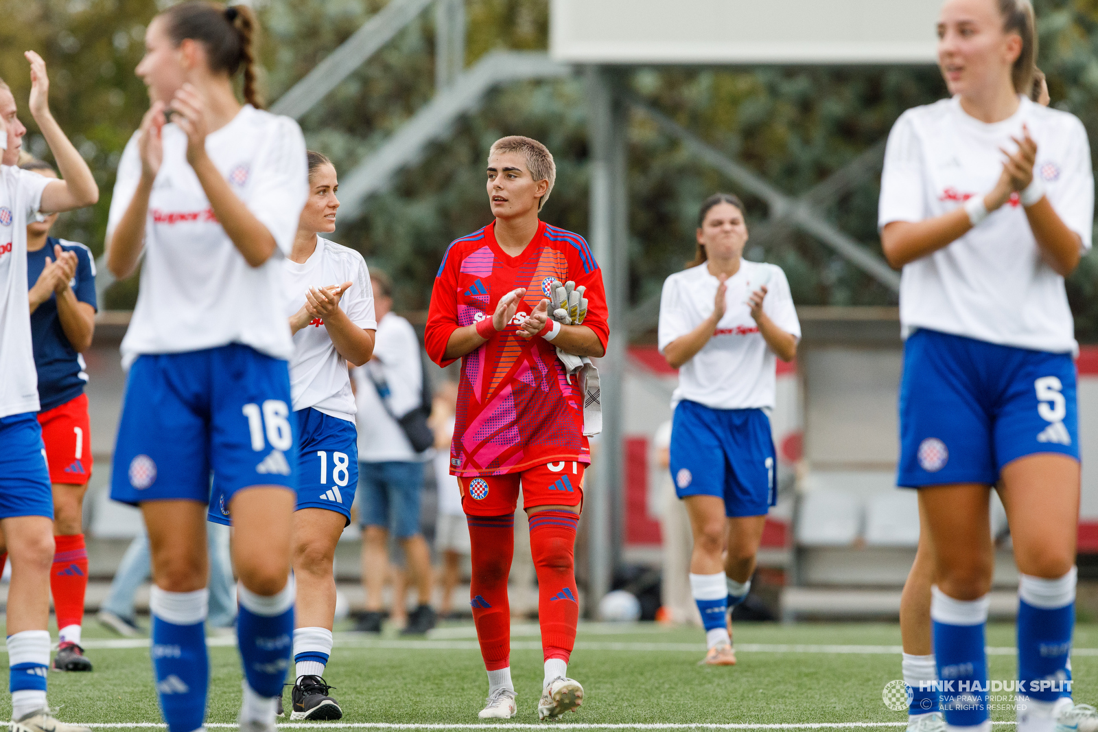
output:
<path id="1" fill-rule="evenodd" d="M 1019 694 L 1038 701 L 1071 696 L 1067 659 L 1075 626 L 1075 578 L 1072 567 L 1055 579 L 1022 575 L 1018 585 Z"/>

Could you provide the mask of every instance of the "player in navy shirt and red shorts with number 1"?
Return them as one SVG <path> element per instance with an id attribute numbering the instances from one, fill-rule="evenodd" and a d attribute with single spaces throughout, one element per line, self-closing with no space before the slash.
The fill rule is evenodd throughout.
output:
<path id="1" fill-rule="evenodd" d="M 57 178 L 42 160 L 20 167 Z M 91 662 L 80 647 L 88 589 L 88 552 L 81 520 L 83 495 L 91 478 L 91 423 L 83 392 L 88 374 L 80 353 L 91 345 L 96 332 L 96 262 L 83 244 L 49 236 L 56 213 L 38 218 L 41 221 L 26 225 L 26 276 L 42 402 L 38 424 L 54 493 L 57 547 L 49 569 L 49 589 L 59 630 L 54 668 L 91 670 Z"/>

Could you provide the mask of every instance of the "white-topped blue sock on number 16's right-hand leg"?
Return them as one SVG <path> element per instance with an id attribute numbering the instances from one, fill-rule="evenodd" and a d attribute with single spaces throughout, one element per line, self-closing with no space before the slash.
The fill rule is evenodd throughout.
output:
<path id="1" fill-rule="evenodd" d="M 293 646 L 293 580 L 270 597 L 256 595 L 242 584 L 236 596 L 240 601 L 236 634 L 244 677 L 260 697 L 279 697 Z"/>

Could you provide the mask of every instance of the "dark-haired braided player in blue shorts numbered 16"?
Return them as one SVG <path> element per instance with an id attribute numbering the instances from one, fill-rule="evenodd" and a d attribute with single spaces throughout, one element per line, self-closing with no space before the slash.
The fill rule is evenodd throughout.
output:
<path id="1" fill-rule="evenodd" d="M 293 635 L 293 355 L 283 271 L 309 195 L 296 123 L 258 109 L 246 7 L 190 1 L 153 19 L 137 75 L 153 106 L 119 164 L 108 266 L 141 292 L 111 497 L 137 504 L 153 555 L 153 665 L 165 721 L 205 716 L 205 514 L 216 473 L 234 518 L 240 729 L 274 729 Z M 233 78 L 244 70 L 242 106 Z M 169 121 L 170 115 L 170 121 Z"/>

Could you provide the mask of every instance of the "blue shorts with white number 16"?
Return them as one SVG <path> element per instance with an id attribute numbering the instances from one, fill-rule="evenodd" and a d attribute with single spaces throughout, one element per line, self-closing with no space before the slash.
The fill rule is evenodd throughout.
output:
<path id="1" fill-rule="evenodd" d="M 232 496 L 296 490 L 296 432 L 284 361 L 233 343 L 138 356 L 130 368 L 111 498 L 210 500 L 210 474 Z"/>

